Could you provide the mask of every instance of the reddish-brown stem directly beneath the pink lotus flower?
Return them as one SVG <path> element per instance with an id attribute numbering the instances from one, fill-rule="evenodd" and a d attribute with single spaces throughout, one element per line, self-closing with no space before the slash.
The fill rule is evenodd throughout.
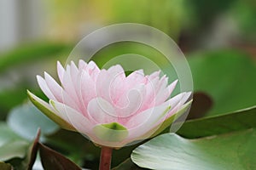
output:
<path id="1" fill-rule="evenodd" d="M 109 170 L 111 166 L 112 148 L 102 146 L 100 170 Z"/>

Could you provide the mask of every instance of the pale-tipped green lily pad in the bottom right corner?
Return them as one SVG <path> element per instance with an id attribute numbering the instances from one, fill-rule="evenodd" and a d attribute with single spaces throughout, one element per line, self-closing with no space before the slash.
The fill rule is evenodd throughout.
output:
<path id="1" fill-rule="evenodd" d="M 256 169 L 255 143 L 255 129 L 202 139 L 166 133 L 137 147 L 131 159 L 139 167 L 158 170 Z"/>

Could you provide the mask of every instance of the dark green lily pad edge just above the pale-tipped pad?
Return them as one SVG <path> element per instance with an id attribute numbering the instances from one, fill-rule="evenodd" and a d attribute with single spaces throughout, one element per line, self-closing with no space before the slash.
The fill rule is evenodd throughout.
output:
<path id="1" fill-rule="evenodd" d="M 220 133 L 246 130 L 256 127 L 256 105 L 221 116 L 189 120 L 177 131 L 183 137 L 194 139 Z"/>

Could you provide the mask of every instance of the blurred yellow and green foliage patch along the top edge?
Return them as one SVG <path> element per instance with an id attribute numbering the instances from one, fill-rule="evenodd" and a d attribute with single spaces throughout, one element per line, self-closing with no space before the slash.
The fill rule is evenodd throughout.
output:
<path id="1" fill-rule="evenodd" d="M 49 4 L 54 36 L 61 40 L 79 37 L 79 31 L 86 26 L 90 30 L 91 26 L 97 27 L 99 23 L 106 26 L 106 23 L 120 22 L 154 26 L 177 40 L 181 28 L 191 24 L 194 13 L 187 0 L 97 0 L 94 2 L 53 0 L 46 3 Z M 66 15 L 67 11 L 69 11 L 68 15 Z M 85 31 L 88 30 L 85 29 Z"/>

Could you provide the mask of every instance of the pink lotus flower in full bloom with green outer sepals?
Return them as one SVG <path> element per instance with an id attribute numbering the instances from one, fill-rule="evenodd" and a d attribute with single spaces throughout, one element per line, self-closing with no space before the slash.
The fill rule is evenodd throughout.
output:
<path id="1" fill-rule="evenodd" d="M 57 63 L 61 85 L 44 72 L 39 87 L 49 103 L 28 91 L 32 103 L 68 130 L 83 133 L 95 144 L 119 148 L 147 139 L 183 114 L 190 93 L 169 99 L 177 81 L 168 85 L 160 71 L 144 76 L 143 70 L 125 76 L 120 65 L 100 70 L 90 61 L 73 62 L 66 70 Z M 187 102 L 187 103 L 186 103 Z"/>

